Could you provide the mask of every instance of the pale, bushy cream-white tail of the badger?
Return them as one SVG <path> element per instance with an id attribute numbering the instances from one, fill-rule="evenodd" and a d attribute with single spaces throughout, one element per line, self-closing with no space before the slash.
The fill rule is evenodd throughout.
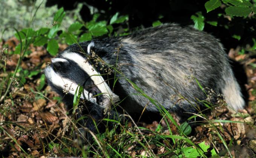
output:
<path id="1" fill-rule="evenodd" d="M 222 75 L 224 81 L 224 86 L 221 88 L 222 94 L 225 96 L 226 103 L 231 109 L 235 111 L 244 109 L 245 101 L 242 97 L 241 88 L 230 66 L 227 69 Z"/>

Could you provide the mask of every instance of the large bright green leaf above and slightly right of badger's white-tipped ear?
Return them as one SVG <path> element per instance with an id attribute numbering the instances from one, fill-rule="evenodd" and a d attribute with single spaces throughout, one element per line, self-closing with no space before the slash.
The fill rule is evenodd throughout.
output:
<path id="1" fill-rule="evenodd" d="M 89 31 L 92 33 L 93 36 L 102 36 L 108 33 L 106 21 L 100 21 L 94 25 L 91 25 L 89 27 Z"/>

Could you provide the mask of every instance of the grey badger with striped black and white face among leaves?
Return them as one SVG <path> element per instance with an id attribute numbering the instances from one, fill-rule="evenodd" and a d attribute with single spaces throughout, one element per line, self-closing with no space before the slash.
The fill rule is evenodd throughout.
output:
<path id="1" fill-rule="evenodd" d="M 96 120 L 113 106 L 128 114 L 158 112 L 149 97 L 186 117 L 197 112 L 195 105 L 203 107 L 200 100 L 207 96 L 201 87 L 223 94 L 235 111 L 245 105 L 222 44 L 191 26 L 163 24 L 73 44 L 53 58 L 44 73 L 71 108 L 75 90 L 82 86 L 81 99 Z M 184 99 L 180 103 L 171 96 Z"/>

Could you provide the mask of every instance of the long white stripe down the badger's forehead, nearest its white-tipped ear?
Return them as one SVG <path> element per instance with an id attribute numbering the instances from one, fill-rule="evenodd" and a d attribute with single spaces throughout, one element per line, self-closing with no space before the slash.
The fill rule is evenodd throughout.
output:
<path id="1" fill-rule="evenodd" d="M 107 83 L 104 81 L 103 77 L 94 70 L 93 66 L 90 65 L 81 55 L 73 52 L 64 52 L 61 54 L 62 57 L 66 59 L 70 59 L 76 62 L 82 70 L 85 71 L 89 76 L 91 76 L 91 80 L 97 86 L 97 88 L 103 93 L 103 95 L 111 98 L 114 94 L 111 89 L 108 87 Z M 98 75 L 98 76 L 93 76 Z"/>

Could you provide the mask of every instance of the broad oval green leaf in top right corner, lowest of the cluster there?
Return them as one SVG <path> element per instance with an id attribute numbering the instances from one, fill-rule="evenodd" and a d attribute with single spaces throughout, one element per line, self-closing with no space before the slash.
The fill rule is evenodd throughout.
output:
<path id="1" fill-rule="evenodd" d="M 225 9 L 227 15 L 233 15 L 237 17 L 244 17 L 250 14 L 252 11 L 251 8 L 244 6 L 229 6 Z"/>

